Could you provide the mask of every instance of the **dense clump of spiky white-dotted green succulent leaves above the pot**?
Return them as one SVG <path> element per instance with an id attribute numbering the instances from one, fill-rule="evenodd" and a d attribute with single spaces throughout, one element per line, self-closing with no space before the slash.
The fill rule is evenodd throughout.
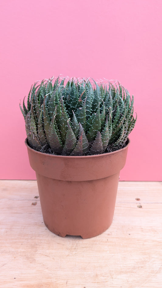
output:
<path id="1" fill-rule="evenodd" d="M 29 146 L 55 155 L 118 150 L 136 123 L 133 96 L 118 81 L 53 77 L 32 85 L 20 109 Z"/>

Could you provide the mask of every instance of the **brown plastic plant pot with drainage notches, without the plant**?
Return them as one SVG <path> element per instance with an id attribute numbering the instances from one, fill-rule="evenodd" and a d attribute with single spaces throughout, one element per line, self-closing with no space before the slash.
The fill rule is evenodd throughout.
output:
<path id="1" fill-rule="evenodd" d="M 25 141 L 50 231 L 62 237 L 91 238 L 109 228 L 129 143 L 111 153 L 60 156 L 38 152 Z"/>

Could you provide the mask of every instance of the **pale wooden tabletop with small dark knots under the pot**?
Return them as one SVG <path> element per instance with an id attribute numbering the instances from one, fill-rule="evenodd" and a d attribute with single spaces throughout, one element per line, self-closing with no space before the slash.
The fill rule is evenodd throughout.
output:
<path id="1" fill-rule="evenodd" d="M 119 182 L 112 225 L 90 239 L 47 229 L 36 181 L 0 191 L 1 288 L 162 287 L 162 182 Z"/>

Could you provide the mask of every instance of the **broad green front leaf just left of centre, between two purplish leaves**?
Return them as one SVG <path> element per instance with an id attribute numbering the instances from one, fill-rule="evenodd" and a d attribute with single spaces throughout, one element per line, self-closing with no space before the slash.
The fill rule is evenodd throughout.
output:
<path id="1" fill-rule="evenodd" d="M 67 135 L 65 140 L 65 145 L 62 151 L 62 155 L 70 155 L 71 152 L 74 150 L 74 147 L 76 146 L 77 139 L 75 137 L 75 134 L 73 130 L 71 129 L 71 126 L 69 125 L 69 122 L 67 121 Z"/>

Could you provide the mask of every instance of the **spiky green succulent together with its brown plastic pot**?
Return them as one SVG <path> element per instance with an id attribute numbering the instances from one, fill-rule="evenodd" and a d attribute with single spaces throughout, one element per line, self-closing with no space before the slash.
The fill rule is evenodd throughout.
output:
<path id="1" fill-rule="evenodd" d="M 118 81 L 53 77 L 36 82 L 20 109 L 45 225 L 62 237 L 101 234 L 136 122 L 133 96 Z"/>

